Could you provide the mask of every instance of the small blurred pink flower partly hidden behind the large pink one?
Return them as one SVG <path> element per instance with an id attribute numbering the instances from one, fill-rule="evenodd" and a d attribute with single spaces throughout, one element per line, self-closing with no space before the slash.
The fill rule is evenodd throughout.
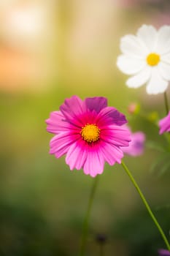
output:
<path id="1" fill-rule="evenodd" d="M 126 126 L 127 127 L 127 126 Z M 131 129 L 127 127 L 131 132 Z M 137 157 L 143 154 L 144 151 L 144 132 L 131 132 L 131 142 L 128 147 L 122 148 L 123 153 L 128 154 L 132 157 Z"/>

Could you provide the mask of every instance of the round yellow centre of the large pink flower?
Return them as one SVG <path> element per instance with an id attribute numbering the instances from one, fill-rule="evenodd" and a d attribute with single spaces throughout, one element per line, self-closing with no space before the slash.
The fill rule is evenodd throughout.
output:
<path id="1" fill-rule="evenodd" d="M 96 124 L 85 124 L 85 127 L 82 127 L 80 134 L 82 135 L 83 140 L 92 143 L 99 139 L 100 129 Z"/>

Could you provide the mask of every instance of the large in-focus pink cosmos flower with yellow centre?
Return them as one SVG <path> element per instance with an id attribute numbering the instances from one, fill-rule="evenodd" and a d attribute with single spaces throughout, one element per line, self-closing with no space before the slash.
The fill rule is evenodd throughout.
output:
<path id="1" fill-rule="evenodd" d="M 71 170 L 82 168 L 95 177 L 103 173 L 104 162 L 120 164 L 122 147 L 131 140 L 128 129 L 122 127 L 126 122 L 122 113 L 107 107 L 104 97 L 82 100 L 73 96 L 46 120 L 47 131 L 55 134 L 50 140 L 50 154 L 57 158 L 66 154 Z"/>

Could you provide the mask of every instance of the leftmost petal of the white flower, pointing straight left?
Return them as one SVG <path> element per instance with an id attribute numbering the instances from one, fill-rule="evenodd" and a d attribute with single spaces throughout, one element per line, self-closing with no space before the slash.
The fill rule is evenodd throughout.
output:
<path id="1" fill-rule="evenodd" d="M 134 75 L 141 71 L 146 65 L 146 61 L 135 59 L 126 55 L 120 55 L 117 58 L 117 67 L 126 75 Z"/>

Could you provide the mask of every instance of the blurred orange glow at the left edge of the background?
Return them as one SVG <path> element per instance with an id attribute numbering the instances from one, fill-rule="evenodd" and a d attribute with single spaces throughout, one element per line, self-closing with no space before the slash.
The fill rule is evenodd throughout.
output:
<path id="1" fill-rule="evenodd" d="M 28 86 L 38 75 L 38 61 L 34 56 L 10 48 L 0 48 L 0 87 L 13 91 Z"/>

